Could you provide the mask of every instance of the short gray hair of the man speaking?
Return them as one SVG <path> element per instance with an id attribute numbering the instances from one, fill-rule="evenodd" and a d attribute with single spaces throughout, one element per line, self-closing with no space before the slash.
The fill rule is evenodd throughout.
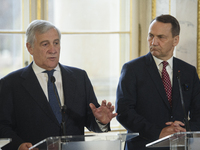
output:
<path id="1" fill-rule="evenodd" d="M 39 32 L 40 34 L 43 34 L 52 28 L 57 30 L 59 39 L 61 39 L 61 33 L 59 29 L 56 26 L 54 26 L 52 23 L 50 23 L 49 21 L 46 21 L 46 20 L 32 21 L 26 30 L 26 43 L 30 43 L 31 47 L 33 47 L 34 41 L 35 41 L 35 33 Z"/>

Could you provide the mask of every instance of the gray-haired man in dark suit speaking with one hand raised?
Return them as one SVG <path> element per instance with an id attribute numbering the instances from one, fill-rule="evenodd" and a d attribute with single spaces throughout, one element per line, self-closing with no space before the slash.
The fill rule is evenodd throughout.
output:
<path id="1" fill-rule="evenodd" d="M 35 20 L 26 36 L 33 62 L 0 80 L 0 137 L 12 138 L 3 150 L 28 150 L 47 137 L 63 135 L 49 104 L 46 71 L 53 69 L 60 98 L 57 102 L 67 107 L 66 135 L 83 135 L 84 127 L 94 132 L 110 130 L 109 122 L 117 115 L 114 106 L 105 100 L 98 104 L 84 70 L 59 63 L 59 30 L 47 21 Z"/>

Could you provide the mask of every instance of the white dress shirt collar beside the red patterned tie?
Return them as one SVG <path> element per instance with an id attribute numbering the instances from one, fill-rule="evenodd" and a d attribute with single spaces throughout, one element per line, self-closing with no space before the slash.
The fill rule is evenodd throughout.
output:
<path id="1" fill-rule="evenodd" d="M 157 57 L 153 56 L 154 61 L 156 63 L 156 66 L 158 67 L 158 71 L 160 73 L 160 76 L 162 77 L 162 69 L 163 69 L 163 60 L 158 59 Z M 173 56 L 167 60 L 168 65 L 166 66 L 166 71 L 169 74 L 169 78 L 171 81 L 171 85 L 172 85 L 172 77 L 173 77 Z"/>

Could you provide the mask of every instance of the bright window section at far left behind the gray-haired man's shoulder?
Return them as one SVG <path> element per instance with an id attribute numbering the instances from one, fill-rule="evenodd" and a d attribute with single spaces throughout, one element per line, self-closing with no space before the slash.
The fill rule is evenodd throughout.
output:
<path id="1" fill-rule="evenodd" d="M 23 36 L 21 1 L 5 0 L 0 5 L 0 77 L 22 66 Z M 19 33 L 19 34 L 18 34 Z"/>

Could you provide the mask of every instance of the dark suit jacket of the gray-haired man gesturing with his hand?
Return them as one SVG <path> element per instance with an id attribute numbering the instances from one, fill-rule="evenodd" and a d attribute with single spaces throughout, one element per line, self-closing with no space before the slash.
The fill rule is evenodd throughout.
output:
<path id="1" fill-rule="evenodd" d="M 101 132 L 89 103 L 99 106 L 85 71 L 60 65 L 67 135 L 83 135 L 84 127 Z M 35 144 L 61 135 L 60 125 L 32 69 L 32 64 L 12 72 L 0 82 L 0 137 L 12 138 L 5 146 L 17 150 L 23 142 Z"/>

